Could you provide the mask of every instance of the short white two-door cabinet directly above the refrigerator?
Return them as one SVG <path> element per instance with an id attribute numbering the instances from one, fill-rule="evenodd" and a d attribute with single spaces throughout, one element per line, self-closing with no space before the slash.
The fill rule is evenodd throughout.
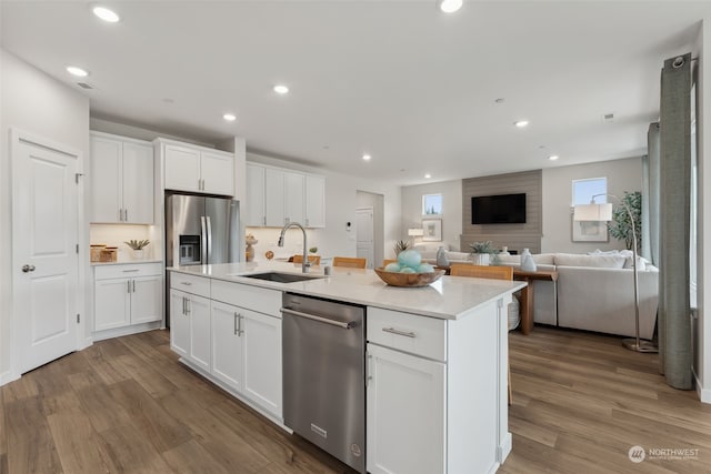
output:
<path id="1" fill-rule="evenodd" d="M 234 195 L 234 154 L 159 139 L 164 188 L 206 194 Z"/>

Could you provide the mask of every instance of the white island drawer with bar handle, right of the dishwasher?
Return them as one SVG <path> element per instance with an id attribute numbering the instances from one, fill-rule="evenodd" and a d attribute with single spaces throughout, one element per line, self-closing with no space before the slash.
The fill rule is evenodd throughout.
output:
<path id="1" fill-rule="evenodd" d="M 447 361 L 447 321 L 368 307 L 368 342 Z"/>

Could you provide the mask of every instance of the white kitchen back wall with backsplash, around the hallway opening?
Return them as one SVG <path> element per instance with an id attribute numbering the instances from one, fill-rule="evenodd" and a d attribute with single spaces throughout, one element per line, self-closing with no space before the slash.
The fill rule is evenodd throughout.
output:
<path id="1" fill-rule="evenodd" d="M 356 256 L 356 208 L 358 208 L 358 191 L 365 191 L 383 195 L 384 248 L 392 246 L 400 239 L 400 188 L 377 180 L 365 180 L 352 175 L 339 174 L 321 169 L 306 167 L 272 157 L 247 153 L 247 160 L 309 172 L 326 177 L 326 228 L 308 230 L 309 246 L 318 246 L 323 256 Z M 346 230 L 346 223 L 353 223 L 352 230 Z M 279 232 L 277 228 L 247 228 L 259 243 L 254 246 L 254 260 L 266 260 L 268 250 L 279 256 L 289 256 L 301 252 L 301 239 L 288 236 L 283 248 L 277 246 Z M 292 232 L 292 231 L 290 231 Z M 296 232 L 296 231 L 293 231 Z M 290 235 L 290 234 L 289 234 Z M 293 239 L 293 240 L 292 240 Z"/>

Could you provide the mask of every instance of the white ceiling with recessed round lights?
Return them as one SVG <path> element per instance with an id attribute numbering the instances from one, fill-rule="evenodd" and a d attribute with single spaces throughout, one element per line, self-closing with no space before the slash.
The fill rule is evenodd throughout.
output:
<path id="1" fill-rule="evenodd" d="M 92 117 L 402 185 L 644 154 L 662 62 L 711 17 L 701 1 L 108 1 L 109 24 L 92 4 L 2 0 L 2 48 Z"/>

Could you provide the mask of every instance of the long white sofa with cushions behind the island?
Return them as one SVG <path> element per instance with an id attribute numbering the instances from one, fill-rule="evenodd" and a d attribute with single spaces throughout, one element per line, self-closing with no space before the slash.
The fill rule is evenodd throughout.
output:
<path id="1" fill-rule="evenodd" d="M 433 262 L 437 245 L 415 246 Z M 450 262 L 469 262 L 469 253 L 448 251 Z M 500 255 L 518 266 L 519 255 Z M 587 331 L 634 336 L 634 278 L 631 252 L 533 255 L 538 270 L 554 270 L 558 282 L 533 282 L 533 321 Z M 651 339 L 657 322 L 659 270 L 639 259 L 640 337 Z"/>

